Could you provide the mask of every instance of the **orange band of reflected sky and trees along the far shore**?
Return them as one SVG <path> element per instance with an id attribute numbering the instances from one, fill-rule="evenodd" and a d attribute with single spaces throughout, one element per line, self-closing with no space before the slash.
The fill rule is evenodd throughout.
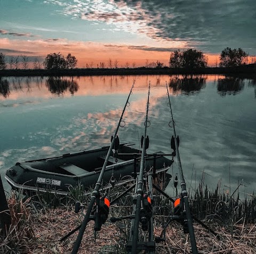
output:
<path id="1" fill-rule="evenodd" d="M 208 84 L 217 80 L 215 91 L 221 96 L 241 93 L 245 84 L 255 87 L 256 79 L 241 77 L 207 76 L 207 75 L 148 75 L 148 76 L 91 76 L 91 77 L 7 77 L 0 78 L 0 100 L 6 97 L 17 100 L 24 97 L 47 98 L 54 96 L 76 95 L 105 95 L 111 93 L 126 94 L 135 80 L 139 89 L 147 87 L 150 81 L 152 87 L 165 86 L 168 82 L 170 93 L 173 95 L 195 95 Z M 169 81 L 168 81 L 169 80 Z M 249 80 L 249 83 L 247 81 Z M 93 87 L 93 89 L 92 89 Z"/>

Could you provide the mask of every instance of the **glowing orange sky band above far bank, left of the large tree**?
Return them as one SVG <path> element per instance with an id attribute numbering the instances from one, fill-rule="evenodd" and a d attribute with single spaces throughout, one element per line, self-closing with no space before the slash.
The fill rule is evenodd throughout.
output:
<path id="1" fill-rule="evenodd" d="M 161 61 L 165 65 L 168 64 L 170 52 L 166 51 L 145 51 L 145 46 L 129 46 L 129 45 L 106 45 L 103 43 L 94 42 L 76 42 L 67 39 L 36 39 L 36 40 L 10 40 L 7 38 L 0 39 L 0 44 L 5 50 L 13 50 L 13 54 L 18 52 L 27 54 L 28 56 L 41 56 L 45 58 L 47 54 L 60 52 L 63 55 L 71 53 L 78 60 L 77 67 L 86 67 L 86 63 L 96 68 L 100 62 L 105 62 L 105 67 L 108 67 L 108 60 L 118 61 L 118 67 L 125 67 L 126 62 L 132 67 L 135 63 L 136 67 L 143 66 L 148 62 Z M 31 67 L 30 67 L 31 68 Z"/>

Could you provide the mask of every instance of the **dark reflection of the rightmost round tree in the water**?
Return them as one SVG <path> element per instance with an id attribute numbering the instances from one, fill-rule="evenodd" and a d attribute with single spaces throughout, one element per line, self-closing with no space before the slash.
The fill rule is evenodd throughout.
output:
<path id="1" fill-rule="evenodd" d="M 236 95 L 244 88 L 244 79 L 239 77 L 225 77 L 218 79 L 218 93 L 221 96 Z"/>

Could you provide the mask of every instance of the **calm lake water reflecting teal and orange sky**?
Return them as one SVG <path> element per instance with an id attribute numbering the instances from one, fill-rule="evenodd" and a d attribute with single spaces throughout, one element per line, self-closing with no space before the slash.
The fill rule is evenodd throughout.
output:
<path id="1" fill-rule="evenodd" d="M 109 144 L 133 80 L 121 142 L 139 146 L 148 83 L 150 151 L 169 153 L 172 128 L 165 82 L 187 186 L 202 180 L 233 192 L 256 187 L 255 80 L 204 76 L 2 78 L 0 83 L 0 173 L 17 161 L 44 158 Z M 177 164 L 171 169 L 178 173 Z M 9 190 L 4 180 L 4 187 Z M 172 193 L 172 184 L 169 192 Z"/>

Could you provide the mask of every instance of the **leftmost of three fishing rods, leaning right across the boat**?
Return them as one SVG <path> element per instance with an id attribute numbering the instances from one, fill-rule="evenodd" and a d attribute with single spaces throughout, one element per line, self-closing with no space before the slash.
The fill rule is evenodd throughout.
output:
<path id="1" fill-rule="evenodd" d="M 128 97 L 127 97 L 127 100 L 126 100 L 126 103 L 125 103 L 123 112 L 122 112 L 122 114 L 121 114 L 121 117 L 119 118 L 118 125 L 117 125 L 116 130 L 115 130 L 115 134 L 114 134 L 113 138 L 111 138 L 111 144 L 110 144 L 110 146 L 109 146 L 106 159 L 105 159 L 105 161 L 104 161 L 104 163 L 103 163 L 103 167 L 102 167 L 102 169 L 101 169 L 101 171 L 100 171 L 100 175 L 99 175 L 98 181 L 97 181 L 97 183 L 95 184 L 94 190 L 93 190 L 93 192 L 92 192 L 91 201 L 90 201 L 90 203 L 89 203 L 89 206 L 88 206 L 88 208 L 87 208 L 86 214 L 85 214 L 85 216 L 84 216 L 83 223 L 81 224 L 81 227 L 79 228 L 79 233 L 78 233 L 77 239 L 76 239 L 76 241 L 75 241 L 72 254 L 76 254 L 77 251 L 78 251 L 78 249 L 79 249 L 79 246 L 80 246 L 80 244 L 81 244 L 81 241 L 82 241 L 82 238 L 83 238 L 83 234 L 84 234 L 85 228 L 86 228 L 86 226 L 87 226 L 87 224 L 88 224 L 88 222 L 89 222 L 89 220 L 90 220 L 90 217 L 91 217 L 90 215 L 91 215 L 91 212 L 92 212 L 92 210 L 93 210 L 93 206 L 94 206 L 95 201 L 96 201 L 96 205 L 97 205 L 97 214 L 98 214 L 98 207 L 99 207 L 99 203 L 100 203 L 100 201 L 101 201 L 101 200 L 100 200 L 100 193 L 99 193 L 99 190 L 100 190 L 100 187 L 101 187 L 103 175 L 104 175 L 105 169 L 106 169 L 106 167 L 107 167 L 107 163 L 108 163 L 108 159 L 109 159 L 109 157 L 110 157 L 110 153 L 111 153 L 111 151 L 112 151 L 112 149 L 113 149 L 113 146 L 114 146 L 114 144 L 115 144 L 115 142 L 116 142 L 116 136 L 117 136 L 118 129 L 119 129 L 119 127 L 121 126 L 121 122 L 124 121 L 124 120 L 123 120 L 123 115 L 124 115 L 126 106 L 127 106 L 127 105 L 130 105 L 130 103 L 129 103 L 129 98 L 130 98 L 130 95 L 132 94 L 132 89 L 133 89 L 133 87 L 134 87 L 134 83 L 135 83 L 135 80 L 134 80 L 134 82 L 133 82 L 133 84 L 132 84 L 130 93 L 129 93 Z M 96 223 L 97 223 L 97 224 L 99 223 L 99 222 L 97 222 L 97 217 L 98 217 L 98 216 L 96 216 L 96 218 L 95 218 L 95 224 L 96 224 Z"/>

